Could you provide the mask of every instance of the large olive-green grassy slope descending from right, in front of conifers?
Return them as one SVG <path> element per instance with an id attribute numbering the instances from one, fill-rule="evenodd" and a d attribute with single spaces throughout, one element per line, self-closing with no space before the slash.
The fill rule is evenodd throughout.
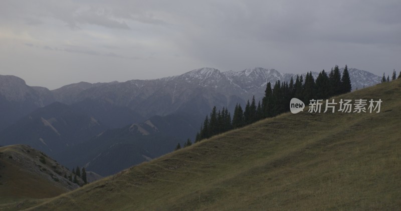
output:
<path id="1" fill-rule="evenodd" d="M 22 207 L 399 210 L 401 80 L 336 98 L 383 102 L 379 113 L 285 113 Z"/>

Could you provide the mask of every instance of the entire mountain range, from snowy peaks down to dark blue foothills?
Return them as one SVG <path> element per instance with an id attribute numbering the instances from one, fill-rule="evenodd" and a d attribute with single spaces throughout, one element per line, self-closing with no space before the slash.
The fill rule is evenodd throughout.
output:
<path id="1" fill-rule="evenodd" d="M 355 68 L 349 74 L 353 89 L 381 79 Z M 86 165 L 97 173 L 101 167 L 95 166 L 116 167 L 101 173 L 108 175 L 171 151 L 178 141 L 193 140 L 214 105 L 233 111 L 253 95 L 261 99 L 268 81 L 292 76 L 261 67 L 239 72 L 205 67 L 159 79 L 79 82 L 49 90 L 0 75 L 0 145 L 30 144 L 67 166 Z M 129 129 L 133 125 L 141 129 Z M 126 164 L 106 161 L 129 152 L 134 155 Z"/>

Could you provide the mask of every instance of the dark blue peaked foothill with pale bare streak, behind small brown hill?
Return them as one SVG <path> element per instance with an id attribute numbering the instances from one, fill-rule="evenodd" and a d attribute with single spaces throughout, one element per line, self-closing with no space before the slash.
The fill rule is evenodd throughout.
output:
<path id="1" fill-rule="evenodd" d="M 106 126 L 71 106 L 54 102 L 38 108 L 0 132 L 0 144 L 29 144 L 51 156 L 87 140 Z"/>

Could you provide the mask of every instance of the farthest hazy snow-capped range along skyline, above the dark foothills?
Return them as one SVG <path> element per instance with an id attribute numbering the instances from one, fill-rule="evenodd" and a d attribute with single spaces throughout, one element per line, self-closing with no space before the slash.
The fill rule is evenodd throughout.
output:
<path id="1" fill-rule="evenodd" d="M 343 68 L 340 70 L 342 72 Z M 316 79 L 318 72 L 312 74 Z M 349 74 L 353 89 L 380 82 L 379 76 L 364 70 L 349 68 Z M 302 75 L 305 77 L 305 73 Z M 291 77 L 295 79 L 296 75 L 262 67 L 238 72 L 204 67 L 159 79 L 93 84 L 79 82 L 50 91 L 44 87 L 28 86 L 16 76 L 0 76 L 0 101 L 3 101 L 5 107 L 29 108 L 23 114 L 54 101 L 74 104 L 90 99 L 127 107 L 145 118 L 175 112 L 204 116 L 214 105 L 231 110 L 237 102 L 244 104 L 253 95 L 259 100 L 264 95 L 268 81 L 274 84 L 277 80 L 289 81 Z M 17 106 L 19 103 L 22 106 Z M 21 117 L 22 114 L 17 116 Z M 7 117 L 4 118 L 8 119 L 7 122 L 16 120 L 10 116 L 4 117 Z"/>

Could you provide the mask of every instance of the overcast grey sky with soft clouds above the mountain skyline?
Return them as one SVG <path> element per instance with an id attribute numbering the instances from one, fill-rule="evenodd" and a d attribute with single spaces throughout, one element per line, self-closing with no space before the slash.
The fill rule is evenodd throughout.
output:
<path id="1" fill-rule="evenodd" d="M 0 74 L 50 89 L 200 67 L 401 70 L 400 0 L 1 0 Z"/>

